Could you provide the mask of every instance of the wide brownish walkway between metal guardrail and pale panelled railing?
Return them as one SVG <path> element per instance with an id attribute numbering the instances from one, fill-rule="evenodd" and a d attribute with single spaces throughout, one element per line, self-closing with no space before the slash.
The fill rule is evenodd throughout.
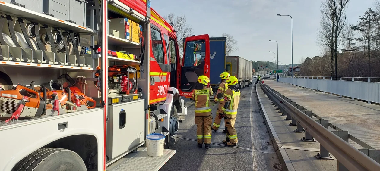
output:
<path id="1" fill-rule="evenodd" d="M 348 131 L 350 135 L 375 149 L 380 149 L 379 105 L 367 104 L 367 102 L 334 96 L 287 83 L 277 83 L 273 80 L 265 80 L 264 83 L 319 117 L 329 120 L 339 129 Z M 363 149 L 354 141 L 350 140 L 349 142 L 352 146 Z"/>

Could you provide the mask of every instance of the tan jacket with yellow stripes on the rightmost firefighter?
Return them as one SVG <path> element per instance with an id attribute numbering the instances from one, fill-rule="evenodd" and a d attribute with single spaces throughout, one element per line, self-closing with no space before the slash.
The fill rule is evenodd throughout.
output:
<path id="1" fill-rule="evenodd" d="M 222 107 L 222 110 L 224 115 L 230 119 L 236 118 L 237 107 L 239 106 L 240 100 L 240 91 L 237 89 L 236 85 L 230 86 L 230 88 L 226 90 L 223 100 L 224 106 Z"/>

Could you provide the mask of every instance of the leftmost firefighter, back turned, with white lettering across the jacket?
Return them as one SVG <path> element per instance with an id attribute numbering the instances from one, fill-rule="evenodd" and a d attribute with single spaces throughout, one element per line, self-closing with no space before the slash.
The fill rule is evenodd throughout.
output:
<path id="1" fill-rule="evenodd" d="M 198 85 L 192 93 L 192 99 L 195 100 L 195 124 L 198 147 L 211 147 L 211 104 L 210 96 L 212 89 L 210 79 L 204 75 L 199 76 Z"/>

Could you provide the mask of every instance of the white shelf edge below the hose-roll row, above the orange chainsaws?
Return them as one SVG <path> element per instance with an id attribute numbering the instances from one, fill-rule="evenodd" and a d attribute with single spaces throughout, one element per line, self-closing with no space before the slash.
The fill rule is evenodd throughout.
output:
<path id="1" fill-rule="evenodd" d="M 15 61 L 2 61 L 0 60 L 0 66 L 22 66 L 22 67 L 36 67 L 36 68 L 59 68 L 59 69 L 74 69 L 74 70 L 94 70 L 92 67 L 80 67 L 80 66 L 63 66 L 54 64 L 38 64 L 38 63 L 26 63 Z"/>

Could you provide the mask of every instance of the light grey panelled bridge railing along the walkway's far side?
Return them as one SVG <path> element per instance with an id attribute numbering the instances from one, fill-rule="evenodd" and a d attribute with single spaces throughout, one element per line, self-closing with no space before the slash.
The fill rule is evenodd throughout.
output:
<path id="1" fill-rule="evenodd" d="M 280 77 L 279 81 L 325 93 L 380 103 L 380 78 Z"/>

